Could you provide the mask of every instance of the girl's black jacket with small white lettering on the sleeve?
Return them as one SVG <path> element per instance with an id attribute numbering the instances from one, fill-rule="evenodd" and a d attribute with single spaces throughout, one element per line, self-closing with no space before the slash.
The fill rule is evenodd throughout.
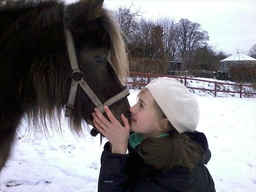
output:
<path id="1" fill-rule="evenodd" d="M 205 135 L 197 131 L 187 134 L 204 148 L 204 164 L 207 164 L 211 158 L 211 152 Z M 129 153 L 122 155 L 111 153 L 109 142 L 105 144 L 101 155 L 98 191 L 215 192 L 212 177 L 204 165 L 199 166 L 193 172 L 185 167 L 156 171 L 139 156 L 140 147 L 140 145 L 134 149 L 129 147 Z"/>

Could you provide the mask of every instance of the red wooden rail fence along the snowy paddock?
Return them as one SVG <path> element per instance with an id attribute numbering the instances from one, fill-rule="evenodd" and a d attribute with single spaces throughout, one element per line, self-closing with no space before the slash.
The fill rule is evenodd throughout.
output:
<path id="1" fill-rule="evenodd" d="M 239 93 L 240 98 L 242 98 L 242 94 L 252 94 L 255 95 L 256 92 L 242 92 L 243 87 L 252 87 L 256 89 L 256 86 L 254 85 L 242 85 L 242 84 L 232 84 L 232 83 L 221 83 L 216 81 L 207 81 L 202 79 L 195 79 L 195 78 L 189 78 L 189 77 L 176 77 L 176 76 L 166 76 L 166 75 L 156 75 L 156 74 L 150 74 L 150 73 L 141 73 L 141 72 L 133 72 L 129 71 L 130 75 L 140 75 L 140 76 L 146 76 L 147 77 L 147 83 L 137 83 L 137 82 L 127 82 L 127 84 L 133 84 L 133 85 L 143 85 L 146 86 L 149 82 L 151 77 L 170 77 L 170 78 L 176 78 L 176 79 L 184 79 L 184 85 L 187 87 L 187 80 L 195 80 L 195 81 L 202 81 L 202 82 L 208 82 L 208 83 L 215 83 L 215 89 L 204 89 L 204 88 L 198 88 L 198 87 L 187 87 L 189 89 L 198 89 L 198 90 L 205 90 L 205 91 L 213 91 L 214 95 L 217 95 L 217 92 L 230 92 L 230 93 Z M 240 88 L 240 91 L 229 91 L 229 90 L 217 90 L 217 85 L 233 85 Z"/>

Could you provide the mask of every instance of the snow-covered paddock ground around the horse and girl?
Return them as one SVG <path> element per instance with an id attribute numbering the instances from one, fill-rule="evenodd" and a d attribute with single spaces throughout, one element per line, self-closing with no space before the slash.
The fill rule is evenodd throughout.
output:
<path id="1" fill-rule="evenodd" d="M 191 82 L 190 82 L 191 83 Z M 130 105 L 138 90 L 130 90 Z M 196 95 L 196 94 L 195 94 Z M 256 191 L 255 98 L 196 95 L 199 132 L 205 133 L 212 158 L 207 166 L 217 191 Z M 97 191 L 100 137 L 78 138 L 64 126 L 63 136 L 26 137 L 21 126 L 17 145 L 0 173 L 0 191 Z"/>

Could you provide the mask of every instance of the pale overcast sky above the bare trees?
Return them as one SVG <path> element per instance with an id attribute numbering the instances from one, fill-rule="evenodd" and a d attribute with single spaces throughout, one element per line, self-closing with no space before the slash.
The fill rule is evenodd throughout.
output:
<path id="1" fill-rule="evenodd" d="M 256 44 L 256 0 L 104 0 L 104 7 L 141 7 L 143 17 L 189 19 L 208 31 L 208 44 L 234 54 L 247 53 Z"/>

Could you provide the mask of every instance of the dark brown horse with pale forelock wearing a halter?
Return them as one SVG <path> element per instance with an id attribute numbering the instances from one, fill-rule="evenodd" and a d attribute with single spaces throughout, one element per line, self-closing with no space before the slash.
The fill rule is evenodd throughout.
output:
<path id="1" fill-rule="evenodd" d="M 0 47 L 0 170 L 24 116 L 45 135 L 61 133 L 63 110 L 77 135 L 104 104 L 130 121 L 126 46 L 103 0 L 2 1 Z"/>

